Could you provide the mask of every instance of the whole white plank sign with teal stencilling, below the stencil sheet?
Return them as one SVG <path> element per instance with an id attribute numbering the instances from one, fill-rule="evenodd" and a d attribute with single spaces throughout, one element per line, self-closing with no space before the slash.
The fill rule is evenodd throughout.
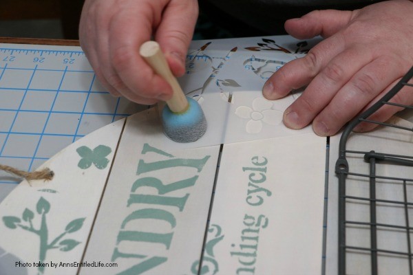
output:
<path id="1" fill-rule="evenodd" d="M 61 151 L 0 205 L 2 274 L 319 274 L 324 138 L 177 147 L 153 108 Z"/>

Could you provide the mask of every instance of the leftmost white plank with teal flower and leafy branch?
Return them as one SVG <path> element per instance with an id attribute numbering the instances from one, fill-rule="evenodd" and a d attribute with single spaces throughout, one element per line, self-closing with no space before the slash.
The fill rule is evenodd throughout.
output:
<path id="1" fill-rule="evenodd" d="M 82 259 L 124 123 L 71 144 L 39 168 L 53 170 L 52 181 L 22 181 L 4 199 L 0 274 L 76 274 L 59 265 Z"/>

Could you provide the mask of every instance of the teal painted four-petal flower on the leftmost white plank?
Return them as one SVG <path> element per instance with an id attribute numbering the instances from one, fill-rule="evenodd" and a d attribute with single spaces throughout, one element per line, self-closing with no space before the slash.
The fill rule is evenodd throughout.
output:
<path id="1" fill-rule="evenodd" d="M 93 163 L 96 168 L 105 169 L 107 164 L 109 164 L 109 159 L 106 157 L 112 152 L 112 149 L 105 145 L 99 145 L 93 150 L 87 146 L 81 146 L 76 151 L 82 157 L 78 163 L 79 168 L 87 169 Z"/>

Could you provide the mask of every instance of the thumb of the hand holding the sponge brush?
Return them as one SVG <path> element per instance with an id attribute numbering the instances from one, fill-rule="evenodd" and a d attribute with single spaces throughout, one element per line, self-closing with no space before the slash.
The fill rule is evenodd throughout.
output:
<path id="1" fill-rule="evenodd" d="M 198 1 L 171 0 L 156 30 L 156 41 L 160 44 L 169 67 L 176 76 L 182 76 L 185 72 L 185 58 L 197 18 Z"/>

